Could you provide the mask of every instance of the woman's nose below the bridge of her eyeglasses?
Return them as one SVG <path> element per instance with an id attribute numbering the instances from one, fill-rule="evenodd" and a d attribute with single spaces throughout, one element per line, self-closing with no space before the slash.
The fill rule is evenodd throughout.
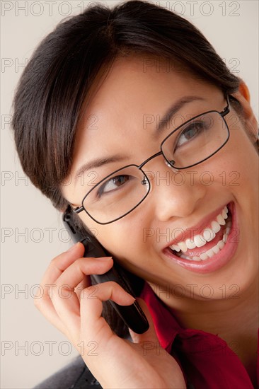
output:
<path id="1" fill-rule="evenodd" d="M 156 218 L 168 221 L 172 217 L 192 214 L 205 197 L 206 187 L 195 180 L 189 170 L 175 171 L 164 163 L 156 165 L 149 194 Z"/>

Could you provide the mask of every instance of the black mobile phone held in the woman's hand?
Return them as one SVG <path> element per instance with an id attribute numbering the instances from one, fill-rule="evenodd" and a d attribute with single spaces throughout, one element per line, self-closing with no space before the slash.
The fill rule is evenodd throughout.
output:
<path id="1" fill-rule="evenodd" d="M 84 257 L 111 257 L 112 255 L 110 255 L 110 253 L 105 250 L 105 248 L 98 242 L 95 236 L 93 236 L 91 233 L 84 233 L 83 235 L 81 231 L 79 231 L 79 228 L 76 228 L 75 223 L 73 222 L 73 218 L 71 217 L 71 212 L 73 212 L 71 207 L 68 207 L 64 212 L 64 226 L 71 234 L 74 243 L 83 243 L 85 248 Z M 115 281 L 117 284 L 122 286 L 125 291 L 136 297 L 130 285 L 127 274 L 125 273 L 124 269 L 122 269 L 122 267 L 116 262 L 114 262 L 112 269 L 110 269 L 105 274 L 92 274 L 91 277 L 93 277 L 96 284 L 100 284 L 106 281 Z M 127 327 L 129 327 L 131 330 L 137 334 L 143 334 L 143 332 L 146 332 L 146 330 L 149 329 L 149 322 L 147 321 L 146 316 L 142 308 L 140 308 L 137 300 L 134 301 L 131 306 L 120 306 L 114 301 L 110 300 L 109 302 L 116 310 L 120 318 L 122 318 L 125 325 L 127 325 Z"/>

